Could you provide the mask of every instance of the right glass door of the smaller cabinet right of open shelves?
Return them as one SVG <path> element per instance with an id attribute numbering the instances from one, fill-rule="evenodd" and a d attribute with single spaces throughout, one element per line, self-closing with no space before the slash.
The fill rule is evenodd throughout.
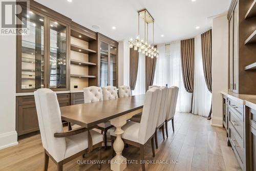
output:
<path id="1" fill-rule="evenodd" d="M 117 48 L 110 46 L 110 86 L 117 86 Z"/>

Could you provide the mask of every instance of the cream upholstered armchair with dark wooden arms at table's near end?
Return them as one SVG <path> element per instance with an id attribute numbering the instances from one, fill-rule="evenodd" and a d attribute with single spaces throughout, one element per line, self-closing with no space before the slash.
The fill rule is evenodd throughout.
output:
<path id="1" fill-rule="evenodd" d="M 50 89 L 38 89 L 34 96 L 42 146 L 45 148 L 44 170 L 48 169 L 49 157 L 58 170 L 62 170 L 63 164 L 94 148 L 98 148 L 98 160 L 101 160 L 103 136 L 100 133 L 84 127 L 63 132 L 56 93 Z"/>

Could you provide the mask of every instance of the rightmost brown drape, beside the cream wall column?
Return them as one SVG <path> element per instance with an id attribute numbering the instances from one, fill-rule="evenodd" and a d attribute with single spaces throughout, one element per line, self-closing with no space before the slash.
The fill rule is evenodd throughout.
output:
<path id="1" fill-rule="evenodd" d="M 201 46 L 202 46 L 202 59 L 203 59 L 203 68 L 204 68 L 204 78 L 208 90 L 212 91 L 211 84 L 211 30 L 201 34 Z M 211 92 L 212 93 L 212 92 Z M 208 115 L 208 118 L 211 118 L 211 109 Z"/>

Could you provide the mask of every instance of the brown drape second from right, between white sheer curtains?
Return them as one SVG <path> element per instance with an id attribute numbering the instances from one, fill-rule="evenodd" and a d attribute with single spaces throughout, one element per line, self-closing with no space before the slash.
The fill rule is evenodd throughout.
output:
<path id="1" fill-rule="evenodd" d="M 181 68 L 184 87 L 188 93 L 194 91 L 195 38 L 180 41 Z"/>

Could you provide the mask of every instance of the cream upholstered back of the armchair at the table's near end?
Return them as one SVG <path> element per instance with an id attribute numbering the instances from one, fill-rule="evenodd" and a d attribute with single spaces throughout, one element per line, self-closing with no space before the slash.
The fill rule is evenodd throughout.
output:
<path id="1" fill-rule="evenodd" d="M 34 96 L 42 146 L 57 162 L 64 160 L 66 140 L 54 137 L 63 132 L 57 95 L 50 89 L 38 89 Z"/>

